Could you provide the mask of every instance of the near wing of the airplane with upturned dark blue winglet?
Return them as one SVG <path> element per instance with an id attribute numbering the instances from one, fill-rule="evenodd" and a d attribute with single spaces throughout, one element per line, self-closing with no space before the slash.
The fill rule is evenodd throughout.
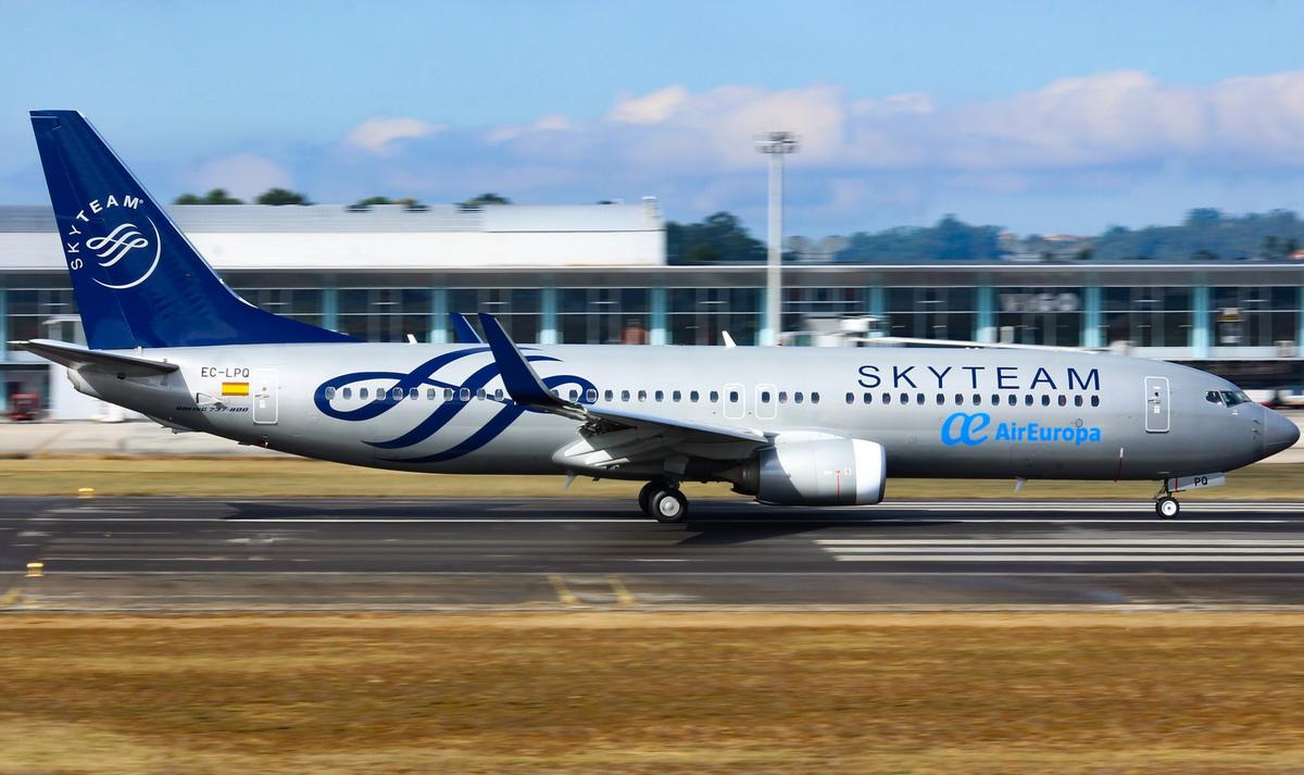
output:
<path id="1" fill-rule="evenodd" d="M 593 433 L 621 429 L 638 431 L 642 433 L 626 436 L 638 436 L 643 440 L 660 438 L 662 448 L 711 444 L 739 445 L 741 442 L 747 448 L 747 451 L 751 451 L 769 444 L 769 434 L 759 429 L 661 418 L 645 412 L 566 401 L 544 385 L 497 318 L 481 312 L 480 325 L 484 327 L 489 348 L 502 372 L 507 394 L 519 404 L 582 420 L 587 423 L 585 428 Z"/>

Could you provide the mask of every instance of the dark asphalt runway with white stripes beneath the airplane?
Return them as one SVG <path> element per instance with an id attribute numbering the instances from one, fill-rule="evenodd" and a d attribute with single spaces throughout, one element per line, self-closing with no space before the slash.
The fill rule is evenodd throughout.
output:
<path id="1" fill-rule="evenodd" d="M 1304 608 L 1300 504 L 0 498 L 0 611 Z"/>

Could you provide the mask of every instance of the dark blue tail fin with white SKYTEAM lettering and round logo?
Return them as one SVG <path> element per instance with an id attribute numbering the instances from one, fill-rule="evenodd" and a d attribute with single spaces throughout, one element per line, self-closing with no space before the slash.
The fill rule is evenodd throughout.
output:
<path id="1" fill-rule="evenodd" d="M 236 296 L 81 114 L 31 125 L 91 348 L 352 341 Z"/>

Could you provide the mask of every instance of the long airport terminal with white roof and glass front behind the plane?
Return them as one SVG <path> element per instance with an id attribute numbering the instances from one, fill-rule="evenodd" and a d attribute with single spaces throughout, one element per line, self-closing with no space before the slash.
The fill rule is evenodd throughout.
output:
<path id="1" fill-rule="evenodd" d="M 492 312 L 520 342 L 739 344 L 764 335 L 764 266 L 673 265 L 656 200 L 482 209 L 179 206 L 172 217 L 250 303 L 360 339 L 446 342 L 447 312 Z M 1245 388 L 1304 384 L 1304 266 L 797 262 L 784 330 L 868 316 L 883 334 L 1111 347 Z M 78 341 L 48 206 L 0 207 L 4 342 Z M 34 356 L 0 350 L 7 404 L 93 408 Z"/>

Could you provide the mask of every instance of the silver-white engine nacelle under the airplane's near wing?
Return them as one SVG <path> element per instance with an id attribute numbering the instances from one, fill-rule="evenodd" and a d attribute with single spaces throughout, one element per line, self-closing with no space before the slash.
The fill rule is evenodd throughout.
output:
<path id="1" fill-rule="evenodd" d="M 883 500 L 887 455 L 863 438 L 780 442 L 734 474 L 734 491 L 763 504 L 863 506 Z"/>

